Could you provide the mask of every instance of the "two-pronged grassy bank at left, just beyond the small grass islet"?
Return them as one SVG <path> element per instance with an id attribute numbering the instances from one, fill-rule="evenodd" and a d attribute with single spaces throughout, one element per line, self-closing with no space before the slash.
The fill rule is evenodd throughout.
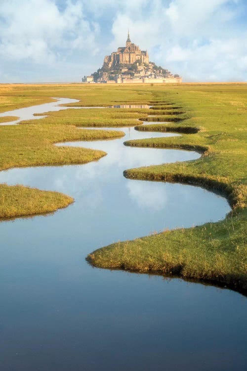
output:
<path id="1" fill-rule="evenodd" d="M 83 130 L 67 125 L 16 125 L 0 127 L 0 169 L 13 167 L 83 164 L 106 153 L 81 147 L 55 146 L 74 140 L 119 138 L 124 133 Z"/>

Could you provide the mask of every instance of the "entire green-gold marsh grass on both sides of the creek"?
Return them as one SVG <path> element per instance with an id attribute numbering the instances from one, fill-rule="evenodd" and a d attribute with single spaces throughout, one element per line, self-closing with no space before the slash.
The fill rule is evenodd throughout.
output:
<path id="1" fill-rule="evenodd" d="M 71 104 L 77 106 L 140 103 L 153 107 L 68 109 L 48 113 L 44 119 L 24 121 L 21 125 L 0 126 L 0 170 L 96 160 L 105 153 L 56 147 L 54 143 L 122 135 L 116 131 L 79 130 L 79 126 L 138 125 L 137 130 L 184 135 L 132 140 L 125 142 L 126 145 L 197 150 L 202 157 L 195 161 L 126 169 L 125 177 L 201 185 L 224 194 L 233 209 L 221 222 L 115 243 L 95 250 L 87 260 L 96 267 L 179 275 L 246 293 L 247 85 L 5 85 L 0 86 L 0 112 L 50 102 L 52 96 L 79 99 L 78 103 Z M 140 126 L 138 118 L 150 121 L 150 125 Z M 154 121 L 161 124 L 154 125 Z M 0 185 L 0 218 L 54 211 L 71 202 L 69 195 L 58 192 Z"/>

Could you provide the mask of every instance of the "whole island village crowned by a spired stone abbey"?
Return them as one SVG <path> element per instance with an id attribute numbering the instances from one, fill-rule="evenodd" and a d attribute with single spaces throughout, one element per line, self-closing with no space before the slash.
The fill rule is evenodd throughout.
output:
<path id="1" fill-rule="evenodd" d="M 131 42 L 129 32 L 125 46 L 106 55 L 103 66 L 90 76 L 82 78 L 83 83 L 176 83 L 182 78 L 167 69 L 149 61 L 147 50 Z"/>

